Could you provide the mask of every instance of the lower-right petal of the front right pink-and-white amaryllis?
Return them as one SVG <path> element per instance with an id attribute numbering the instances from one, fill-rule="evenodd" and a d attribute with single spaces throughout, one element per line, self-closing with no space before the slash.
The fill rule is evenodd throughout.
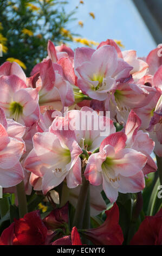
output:
<path id="1" fill-rule="evenodd" d="M 119 174 L 118 184 L 121 193 L 137 193 L 145 188 L 145 178 L 142 171 L 137 174 L 125 177 Z"/>

